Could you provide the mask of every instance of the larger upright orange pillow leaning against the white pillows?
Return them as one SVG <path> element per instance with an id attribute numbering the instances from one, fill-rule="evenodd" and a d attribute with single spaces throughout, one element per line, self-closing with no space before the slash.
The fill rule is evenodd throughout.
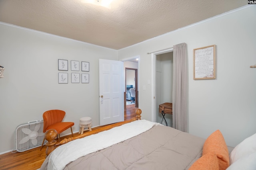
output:
<path id="1" fill-rule="evenodd" d="M 203 154 L 214 153 L 218 157 L 220 170 L 226 170 L 229 166 L 228 147 L 220 130 L 212 133 L 204 142 Z"/>

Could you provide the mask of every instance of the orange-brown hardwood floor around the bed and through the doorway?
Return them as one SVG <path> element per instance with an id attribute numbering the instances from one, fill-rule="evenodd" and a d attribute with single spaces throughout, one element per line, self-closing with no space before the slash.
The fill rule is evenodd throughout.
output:
<path id="1" fill-rule="evenodd" d="M 136 117 L 136 107 L 134 104 L 127 105 L 124 112 L 124 120 L 129 120 Z M 98 129 L 95 127 L 92 129 Z M 74 133 L 73 136 L 80 134 Z M 71 135 L 60 137 L 60 139 L 69 138 Z M 41 167 L 45 159 L 46 146 L 40 151 L 40 147 L 30 149 L 24 152 L 8 152 L 0 155 L 0 170 L 36 170 Z"/>

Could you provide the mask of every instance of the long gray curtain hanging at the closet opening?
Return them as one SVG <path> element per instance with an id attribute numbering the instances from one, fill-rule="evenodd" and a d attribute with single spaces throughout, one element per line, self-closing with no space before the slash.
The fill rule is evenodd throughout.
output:
<path id="1" fill-rule="evenodd" d="M 187 44 L 173 46 L 173 89 L 172 89 L 172 121 L 173 128 L 187 130 Z"/>

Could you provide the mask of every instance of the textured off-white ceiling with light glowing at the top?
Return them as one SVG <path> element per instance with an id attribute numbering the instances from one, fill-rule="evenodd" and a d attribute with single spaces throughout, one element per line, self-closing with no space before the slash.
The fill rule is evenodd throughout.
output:
<path id="1" fill-rule="evenodd" d="M 97 0 L 95 0 L 97 2 Z M 247 5 L 246 0 L 0 0 L 0 21 L 122 49 Z"/>

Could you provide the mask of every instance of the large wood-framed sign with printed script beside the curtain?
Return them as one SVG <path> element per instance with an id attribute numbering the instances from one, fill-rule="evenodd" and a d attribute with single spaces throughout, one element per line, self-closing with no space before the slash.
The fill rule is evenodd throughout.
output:
<path id="1" fill-rule="evenodd" d="M 215 79 L 215 45 L 193 50 L 194 80 Z"/>

